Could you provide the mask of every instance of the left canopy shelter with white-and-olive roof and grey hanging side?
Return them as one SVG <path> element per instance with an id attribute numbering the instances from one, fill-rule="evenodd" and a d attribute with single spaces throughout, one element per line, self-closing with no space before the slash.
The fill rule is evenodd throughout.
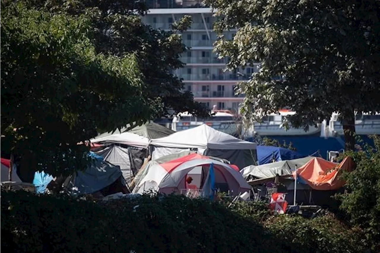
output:
<path id="1" fill-rule="evenodd" d="M 103 144 L 96 152 L 109 163 L 119 165 L 123 177 L 128 183 L 141 168 L 144 159 L 148 157 L 148 146 L 151 138 L 167 136 L 174 131 L 156 123 L 146 123 L 136 126 L 130 131 L 124 128 L 114 134 L 104 133 L 91 140 L 92 144 Z"/>

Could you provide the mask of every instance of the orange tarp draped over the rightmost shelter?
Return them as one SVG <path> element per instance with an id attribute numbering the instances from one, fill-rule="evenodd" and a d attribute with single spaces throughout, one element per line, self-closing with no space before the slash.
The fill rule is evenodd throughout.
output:
<path id="1" fill-rule="evenodd" d="M 304 179 L 314 190 L 337 190 L 345 183 L 339 178 L 341 171 L 351 171 L 354 166 L 350 157 L 344 158 L 339 164 L 316 157 L 297 169 L 297 177 Z"/>

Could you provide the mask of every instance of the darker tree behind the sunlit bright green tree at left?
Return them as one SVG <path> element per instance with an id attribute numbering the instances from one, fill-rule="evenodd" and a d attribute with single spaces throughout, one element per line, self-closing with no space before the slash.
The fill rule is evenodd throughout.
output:
<path id="1" fill-rule="evenodd" d="M 147 6 L 143 1 L 115 0 L 33 0 L 34 5 L 51 13 L 89 17 L 93 43 L 98 53 L 122 56 L 134 53 L 144 75 L 144 92 L 149 101 L 152 118 L 188 111 L 208 116 L 201 103 L 184 91 L 180 79 L 173 71 L 182 68 L 180 56 L 187 50 L 178 33 L 191 25 L 191 17 L 184 15 L 172 24 L 172 31 L 154 29 L 142 22 Z M 133 127 L 133 126 L 132 126 Z"/>

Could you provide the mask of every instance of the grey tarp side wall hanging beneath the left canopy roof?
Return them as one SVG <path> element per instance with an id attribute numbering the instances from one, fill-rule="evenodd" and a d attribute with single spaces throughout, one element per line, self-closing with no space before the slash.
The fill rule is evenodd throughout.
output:
<path id="1" fill-rule="evenodd" d="M 144 158 L 147 157 L 147 149 L 127 147 L 122 145 L 110 145 L 96 152 L 111 164 L 120 166 L 124 179 L 130 183 L 140 169 Z"/>

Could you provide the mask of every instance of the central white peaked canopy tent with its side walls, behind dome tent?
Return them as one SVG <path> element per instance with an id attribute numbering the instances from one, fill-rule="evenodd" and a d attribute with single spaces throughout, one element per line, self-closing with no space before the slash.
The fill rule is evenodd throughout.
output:
<path id="1" fill-rule="evenodd" d="M 182 150 L 223 158 L 244 168 L 256 162 L 256 143 L 243 141 L 203 124 L 169 136 L 150 140 L 152 159 Z"/>

